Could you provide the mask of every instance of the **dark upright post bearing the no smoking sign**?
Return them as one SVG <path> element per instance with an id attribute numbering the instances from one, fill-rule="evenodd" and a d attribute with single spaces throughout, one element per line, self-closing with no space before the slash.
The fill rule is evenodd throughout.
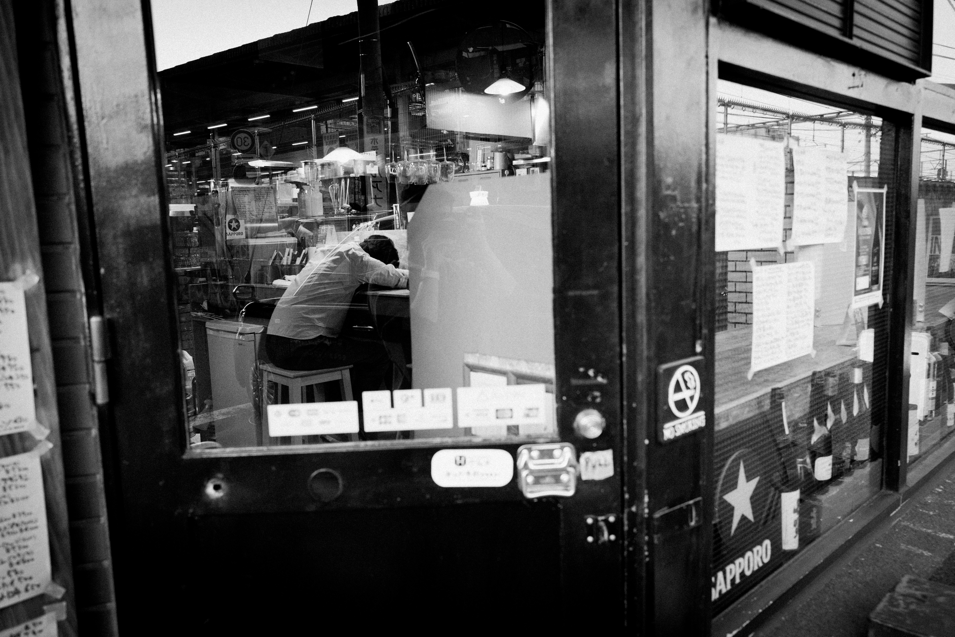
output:
<path id="1" fill-rule="evenodd" d="M 697 408 L 703 430 L 667 443 L 655 433 L 659 365 L 703 355 L 711 387 L 708 14 L 706 2 L 667 0 L 622 14 L 627 614 L 646 635 L 710 629 L 712 396 Z M 697 498 L 699 526 L 654 523 Z"/>

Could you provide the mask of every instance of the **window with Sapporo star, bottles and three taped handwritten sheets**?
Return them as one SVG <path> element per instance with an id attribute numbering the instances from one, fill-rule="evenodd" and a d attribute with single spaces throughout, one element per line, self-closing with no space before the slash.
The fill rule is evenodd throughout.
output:
<path id="1" fill-rule="evenodd" d="M 719 612 L 881 487 L 895 129 L 724 80 L 714 115 Z"/>

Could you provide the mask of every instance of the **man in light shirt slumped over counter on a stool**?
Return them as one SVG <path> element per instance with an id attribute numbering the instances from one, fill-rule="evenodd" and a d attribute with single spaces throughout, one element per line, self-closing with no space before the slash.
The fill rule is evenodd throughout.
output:
<path id="1" fill-rule="evenodd" d="M 396 265 L 398 252 L 383 235 L 337 245 L 308 263 L 268 322 L 265 350 L 272 364 L 298 372 L 352 365 L 360 406 L 361 393 L 378 390 L 389 371 L 388 353 L 381 343 L 342 334 L 342 327 L 351 297 L 363 283 L 408 287 L 408 270 Z"/>

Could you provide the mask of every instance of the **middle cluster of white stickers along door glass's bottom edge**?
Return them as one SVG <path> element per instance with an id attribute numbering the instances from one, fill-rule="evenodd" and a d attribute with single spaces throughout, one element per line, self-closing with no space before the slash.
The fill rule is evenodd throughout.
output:
<path id="1" fill-rule="evenodd" d="M 362 392 L 361 397 L 366 432 L 451 429 L 455 426 L 451 388 L 381 390 Z"/>

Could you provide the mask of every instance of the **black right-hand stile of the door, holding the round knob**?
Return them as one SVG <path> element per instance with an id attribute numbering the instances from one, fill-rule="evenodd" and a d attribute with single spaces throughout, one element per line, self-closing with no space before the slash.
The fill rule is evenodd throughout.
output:
<path id="1" fill-rule="evenodd" d="M 562 502 L 569 548 L 562 584 L 568 605 L 612 628 L 624 622 L 622 542 L 588 545 L 584 517 L 623 512 L 617 15 L 615 3 L 603 0 L 554 0 L 550 11 L 558 423 L 578 452 L 613 449 L 618 456 L 612 478 L 584 481 Z M 608 423 L 594 440 L 574 432 L 574 416 L 586 408 Z M 588 579 L 587 572 L 609 577 Z"/>

